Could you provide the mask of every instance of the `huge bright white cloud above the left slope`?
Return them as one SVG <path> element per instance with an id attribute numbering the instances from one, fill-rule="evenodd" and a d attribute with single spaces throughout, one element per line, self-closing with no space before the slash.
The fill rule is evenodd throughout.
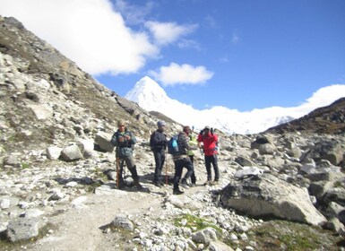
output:
<path id="1" fill-rule="evenodd" d="M 134 73 L 159 54 L 108 0 L 0 0 L 0 14 L 15 17 L 90 74 Z"/>

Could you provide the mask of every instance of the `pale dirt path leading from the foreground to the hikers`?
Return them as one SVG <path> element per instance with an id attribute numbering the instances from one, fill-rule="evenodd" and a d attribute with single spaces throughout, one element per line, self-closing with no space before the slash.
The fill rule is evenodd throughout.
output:
<path id="1" fill-rule="evenodd" d="M 196 187 L 194 187 L 196 188 Z M 193 193 L 186 191 L 185 195 Z M 106 234 L 103 229 L 114 220 L 117 214 L 133 215 L 143 218 L 151 212 L 150 221 L 160 217 L 161 205 L 171 186 L 156 188 L 150 186 L 151 193 L 126 192 L 116 189 L 107 191 L 108 195 L 86 195 L 72 203 L 68 210 L 49 218 L 57 229 L 35 244 L 28 245 L 27 250 L 41 251 L 75 251 L 75 250 L 115 250 L 116 236 Z M 200 189 L 200 188 L 199 188 Z"/>

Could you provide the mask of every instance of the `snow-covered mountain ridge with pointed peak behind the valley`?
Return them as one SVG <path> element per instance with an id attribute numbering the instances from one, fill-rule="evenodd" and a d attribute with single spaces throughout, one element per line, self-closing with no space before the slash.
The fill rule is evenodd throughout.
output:
<path id="1" fill-rule="evenodd" d="M 210 125 L 229 134 L 257 134 L 272 126 L 303 117 L 317 108 L 306 102 L 296 108 L 272 107 L 248 112 L 225 107 L 197 110 L 178 100 L 170 99 L 160 85 L 148 76 L 136 82 L 125 98 L 138 103 L 148 111 L 158 111 L 171 117 L 182 125 L 193 125 L 196 129 Z"/>

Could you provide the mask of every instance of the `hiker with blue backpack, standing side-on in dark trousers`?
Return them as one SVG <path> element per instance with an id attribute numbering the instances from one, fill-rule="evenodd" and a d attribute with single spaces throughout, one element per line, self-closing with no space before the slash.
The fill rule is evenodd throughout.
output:
<path id="1" fill-rule="evenodd" d="M 191 150 L 189 146 L 189 137 L 185 132 L 190 132 L 191 129 L 189 126 L 184 126 L 183 131 L 177 135 L 177 147 L 178 151 L 173 155 L 173 160 L 175 164 L 175 175 L 174 175 L 174 189 L 173 195 L 182 195 L 184 192 L 179 190 L 178 183 L 182 176 L 182 170 L 185 168 L 187 172 L 185 177 L 181 181 L 181 186 L 188 188 L 187 179 L 192 176 L 194 172 L 192 161 L 187 155 L 187 151 Z"/>

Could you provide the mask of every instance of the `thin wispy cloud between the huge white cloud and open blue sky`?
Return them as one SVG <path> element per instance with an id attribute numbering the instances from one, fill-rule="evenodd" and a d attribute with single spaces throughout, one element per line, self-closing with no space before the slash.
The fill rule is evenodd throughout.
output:
<path id="1" fill-rule="evenodd" d="M 181 37 L 193 32 L 196 25 L 178 25 L 175 22 L 146 22 L 145 27 L 151 31 L 156 43 L 168 45 Z"/>

